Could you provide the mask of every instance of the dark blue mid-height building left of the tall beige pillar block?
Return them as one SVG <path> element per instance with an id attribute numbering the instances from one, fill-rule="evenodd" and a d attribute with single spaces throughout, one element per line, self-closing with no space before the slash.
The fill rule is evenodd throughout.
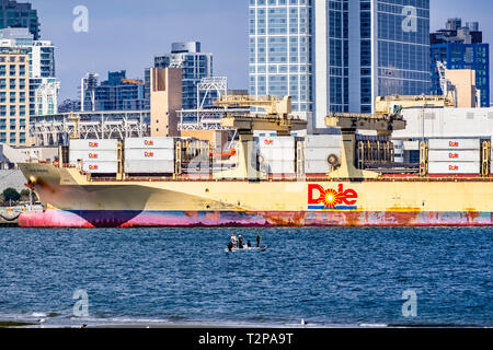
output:
<path id="1" fill-rule="evenodd" d="M 108 72 L 99 83 L 99 74 L 88 73 L 81 80 L 82 110 L 146 109 L 145 83 L 126 78 L 126 71 Z"/>

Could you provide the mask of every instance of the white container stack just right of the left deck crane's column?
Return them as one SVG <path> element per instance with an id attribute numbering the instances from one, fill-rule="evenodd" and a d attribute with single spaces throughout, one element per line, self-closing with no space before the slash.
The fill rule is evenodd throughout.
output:
<path id="1" fill-rule="evenodd" d="M 295 174 L 295 138 L 277 136 L 259 138 L 261 168 L 267 174 Z"/>

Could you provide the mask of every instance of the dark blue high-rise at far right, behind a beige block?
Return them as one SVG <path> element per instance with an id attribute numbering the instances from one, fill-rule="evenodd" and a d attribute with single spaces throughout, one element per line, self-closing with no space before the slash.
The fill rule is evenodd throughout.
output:
<path id="1" fill-rule="evenodd" d="M 478 105 L 490 107 L 490 45 L 483 43 L 479 23 L 462 26 L 461 19 L 450 19 L 445 30 L 429 35 L 429 43 L 432 94 L 443 94 L 437 62 L 449 70 L 472 69 L 475 71 L 475 89 L 480 91 Z"/>

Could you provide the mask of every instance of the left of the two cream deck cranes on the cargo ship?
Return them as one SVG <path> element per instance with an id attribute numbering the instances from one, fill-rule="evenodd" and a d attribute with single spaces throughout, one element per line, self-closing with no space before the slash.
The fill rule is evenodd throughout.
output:
<path id="1" fill-rule="evenodd" d="M 265 115 L 234 115 L 228 113 L 221 118 L 223 127 L 238 130 L 238 166 L 234 170 L 216 174 L 216 178 L 259 178 L 260 174 L 250 164 L 249 144 L 253 141 L 254 130 L 276 131 L 279 136 L 289 136 L 291 131 L 303 130 L 307 121 L 291 116 L 291 97 L 232 95 L 220 96 L 214 101 L 221 107 L 260 107 Z"/>

